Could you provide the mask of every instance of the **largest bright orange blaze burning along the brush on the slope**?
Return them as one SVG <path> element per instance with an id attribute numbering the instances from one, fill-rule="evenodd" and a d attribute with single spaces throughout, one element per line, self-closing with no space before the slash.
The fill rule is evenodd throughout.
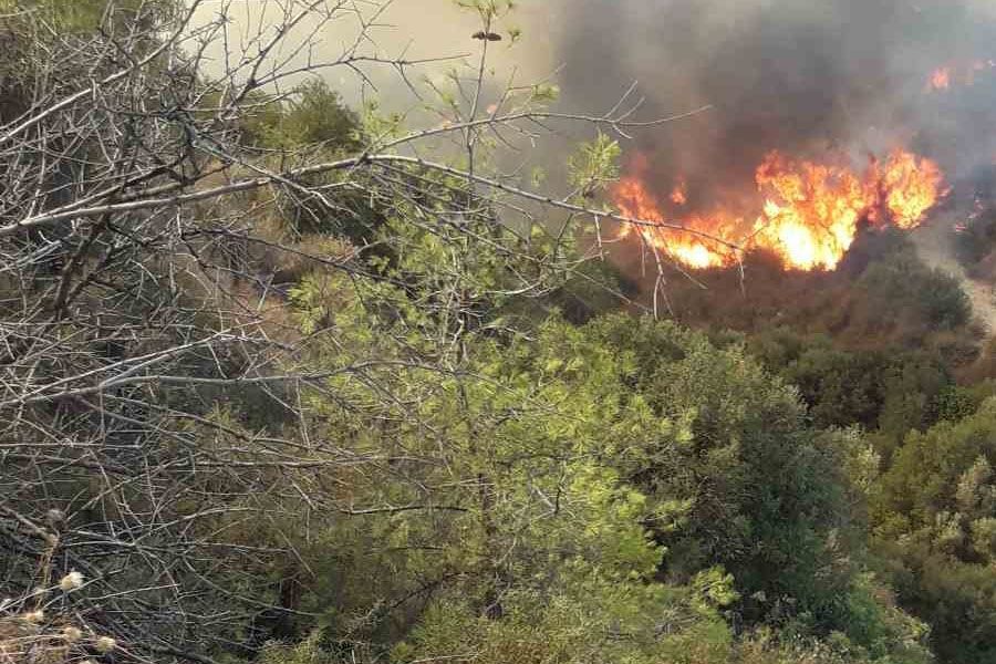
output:
<path id="1" fill-rule="evenodd" d="M 945 194 L 940 167 L 905 151 L 873 160 L 862 175 L 771 153 L 755 175 L 764 198 L 758 212 L 717 210 L 665 227 L 660 201 L 644 185 L 644 172 L 645 166 L 637 165 L 613 190 L 621 214 L 646 224 L 626 225 L 623 235 L 636 229 L 654 249 L 698 269 L 736 262 L 733 247 L 739 247 L 772 251 L 787 268 L 832 270 L 850 249 L 862 219 L 914 228 Z M 682 201 L 674 196 L 671 201 L 683 205 L 684 189 L 682 194 Z"/>

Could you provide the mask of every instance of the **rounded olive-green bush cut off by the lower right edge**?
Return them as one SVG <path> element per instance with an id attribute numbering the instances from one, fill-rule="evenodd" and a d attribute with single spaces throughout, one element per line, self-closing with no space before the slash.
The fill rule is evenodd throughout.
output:
<path id="1" fill-rule="evenodd" d="M 947 662 L 996 653 L 996 400 L 912 433 L 884 475 L 873 526 L 904 604 L 932 625 Z"/>

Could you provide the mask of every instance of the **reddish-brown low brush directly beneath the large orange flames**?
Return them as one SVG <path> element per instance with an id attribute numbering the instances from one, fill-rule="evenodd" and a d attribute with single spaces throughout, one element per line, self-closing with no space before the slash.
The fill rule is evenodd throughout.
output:
<path id="1" fill-rule="evenodd" d="M 706 291 L 673 279 L 671 308 L 696 328 L 748 335 L 786 328 L 826 335 L 847 350 L 927 351 L 953 369 L 978 353 L 961 286 L 924 264 L 902 235 L 860 236 L 834 272 L 787 274 L 775 257 L 756 252 L 745 257 L 744 273 L 746 279 L 737 270 L 702 271 L 696 279 Z"/>

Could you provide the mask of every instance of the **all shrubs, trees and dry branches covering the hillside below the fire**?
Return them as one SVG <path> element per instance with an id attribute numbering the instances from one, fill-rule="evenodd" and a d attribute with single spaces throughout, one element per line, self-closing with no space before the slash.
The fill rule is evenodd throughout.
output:
<path id="1" fill-rule="evenodd" d="M 0 661 L 994 656 L 957 282 L 869 235 L 672 280 L 657 320 L 589 251 L 640 104 L 497 85 L 511 2 L 458 3 L 424 125 L 324 75 L 425 64 L 371 50 L 375 7 L 200 4 L 0 0 Z M 564 190 L 502 175 L 560 123 Z"/>

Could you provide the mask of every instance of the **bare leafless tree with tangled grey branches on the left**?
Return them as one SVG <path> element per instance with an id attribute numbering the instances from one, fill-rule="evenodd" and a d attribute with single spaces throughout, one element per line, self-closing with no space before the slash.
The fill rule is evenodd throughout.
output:
<path id="1" fill-rule="evenodd" d="M 312 437 L 307 395 L 362 385 L 383 412 L 406 403 L 392 371 L 460 375 L 465 335 L 507 333 L 492 309 L 578 271 L 588 225 L 640 222 L 582 196 L 611 174 L 605 137 L 562 194 L 494 167 L 496 143 L 543 123 L 642 126 L 632 91 L 584 115 L 549 110 L 550 85 L 491 87 L 510 3 L 468 3 L 486 39 L 416 129 L 313 82 L 426 64 L 376 44 L 386 3 L 257 4 L 269 25 L 238 39 L 229 2 L 200 22 L 204 0 L 0 4 L 2 611 L 42 643 L 70 623 L 120 660 L 205 662 L 286 633 L 312 504 L 397 511 L 328 487 L 401 459 Z M 311 59 L 339 21 L 355 41 Z M 426 156 L 440 144 L 459 156 Z M 374 328 L 343 339 L 341 300 L 395 319 L 404 352 L 382 355 Z M 309 366 L 318 345 L 342 350 Z M 73 571 L 84 585 L 60 594 Z"/>

